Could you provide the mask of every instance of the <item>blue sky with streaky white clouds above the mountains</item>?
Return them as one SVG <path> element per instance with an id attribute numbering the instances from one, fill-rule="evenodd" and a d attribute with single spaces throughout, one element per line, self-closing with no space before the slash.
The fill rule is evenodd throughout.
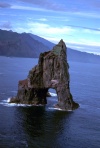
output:
<path id="1" fill-rule="evenodd" d="M 100 0 L 0 0 L 0 29 L 100 55 Z"/>

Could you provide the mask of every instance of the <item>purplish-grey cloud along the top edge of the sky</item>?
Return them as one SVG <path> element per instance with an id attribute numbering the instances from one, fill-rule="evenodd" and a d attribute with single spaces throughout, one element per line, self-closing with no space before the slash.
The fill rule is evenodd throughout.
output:
<path id="1" fill-rule="evenodd" d="M 96 5 L 100 4 L 97 0 L 19 0 L 29 4 L 33 4 L 39 8 L 45 8 L 47 10 L 63 11 L 63 12 L 84 12 L 84 10 L 97 8 Z M 89 10 L 91 11 L 91 10 Z"/>

